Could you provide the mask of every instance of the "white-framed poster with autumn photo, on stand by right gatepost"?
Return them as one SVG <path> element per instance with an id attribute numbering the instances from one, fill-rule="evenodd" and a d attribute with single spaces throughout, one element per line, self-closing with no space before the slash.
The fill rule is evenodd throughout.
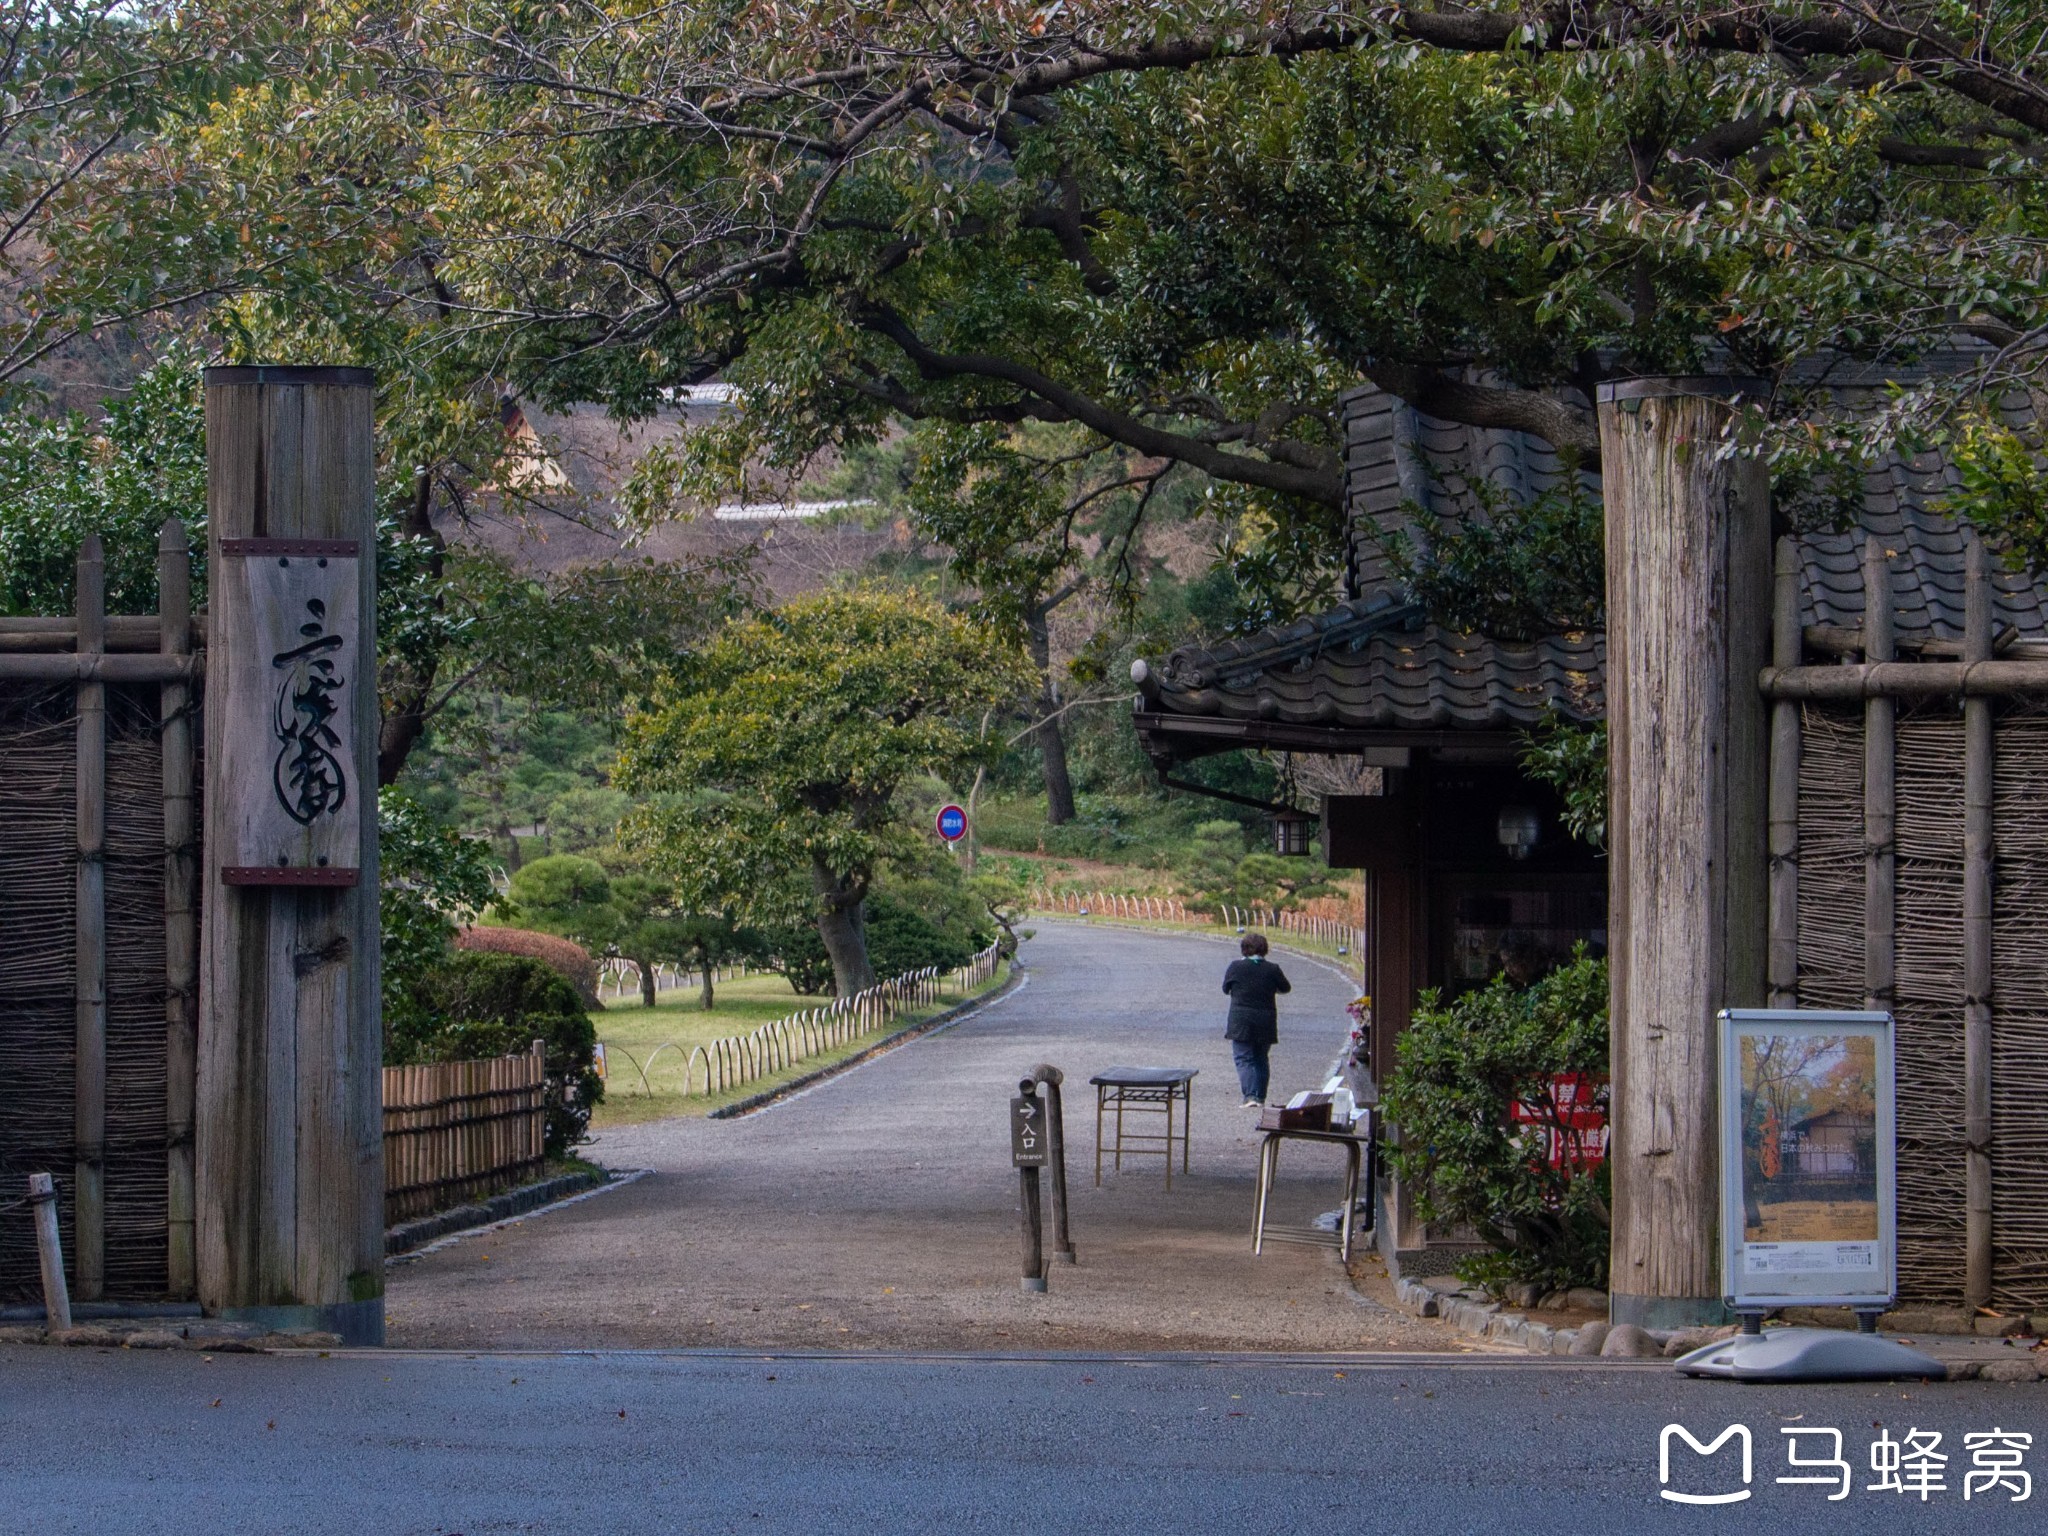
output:
<path id="1" fill-rule="evenodd" d="M 1729 1307 L 1888 1307 L 1896 1292 L 1892 1016 L 1720 1012 Z"/>

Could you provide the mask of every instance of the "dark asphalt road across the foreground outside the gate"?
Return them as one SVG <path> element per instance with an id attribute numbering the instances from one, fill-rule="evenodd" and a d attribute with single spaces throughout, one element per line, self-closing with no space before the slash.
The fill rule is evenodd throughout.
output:
<path id="1" fill-rule="evenodd" d="M 1669 1423 L 1747 1423 L 1753 1499 L 1657 1497 Z M 1925 1505 L 1778 1487 L 1784 1425 L 1944 1434 Z M 1964 1432 L 2040 1386 L 1745 1389 L 1661 1366 L 868 1356 L 221 1356 L 0 1348 L 0 1532 L 2013 1532 Z M 1733 1450 L 1726 1448 L 1726 1456 Z M 2028 1454 L 2048 1470 L 2048 1450 Z M 1673 1487 L 1739 1491 L 1679 1450 Z M 2005 1495 L 2009 1497 L 2009 1495 Z"/>

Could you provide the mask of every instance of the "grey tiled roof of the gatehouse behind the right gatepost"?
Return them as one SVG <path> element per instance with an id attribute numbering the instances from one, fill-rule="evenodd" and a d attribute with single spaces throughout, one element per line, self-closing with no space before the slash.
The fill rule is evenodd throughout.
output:
<path id="1" fill-rule="evenodd" d="M 1452 635 L 1405 600 L 1380 553 L 1384 535 L 1409 524 L 1415 504 L 1446 520 L 1483 518 L 1477 479 L 1526 502 L 1563 473 L 1556 455 L 1524 434 L 1438 422 L 1380 391 L 1350 395 L 1354 598 L 1249 639 L 1174 651 L 1157 666 L 1141 662 L 1133 670 L 1139 709 L 1167 717 L 1151 727 L 1167 731 L 1174 715 L 1341 731 L 1501 731 L 1552 713 L 1599 719 L 1606 635 L 1550 635 L 1528 645 Z M 1597 475 L 1587 475 L 1587 485 L 1597 494 Z M 1855 528 L 1800 539 L 1804 623 L 1862 623 L 1862 553 L 1876 535 L 1890 563 L 1901 649 L 1960 639 L 1964 537 L 1939 510 L 1954 485 L 1954 467 L 1935 455 L 1876 465 Z M 1995 588 L 1999 627 L 2021 639 L 2048 637 L 2048 588 L 2005 571 Z"/>

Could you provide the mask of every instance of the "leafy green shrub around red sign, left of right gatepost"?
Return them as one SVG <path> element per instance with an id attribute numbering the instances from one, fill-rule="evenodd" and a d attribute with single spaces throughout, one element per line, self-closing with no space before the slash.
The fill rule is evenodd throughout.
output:
<path id="1" fill-rule="evenodd" d="M 1501 975 L 1448 1006 L 1436 991 L 1417 999 L 1386 1083 L 1401 1133 L 1389 1161 L 1423 1217 L 1468 1223 L 1493 1245 L 1460 1270 L 1468 1280 L 1606 1284 L 1606 1163 L 1550 1167 L 1511 1118 L 1522 1102 L 1554 1124 L 1550 1083 L 1567 1073 L 1608 1075 L 1608 963 L 1583 944 L 1532 987 Z"/>

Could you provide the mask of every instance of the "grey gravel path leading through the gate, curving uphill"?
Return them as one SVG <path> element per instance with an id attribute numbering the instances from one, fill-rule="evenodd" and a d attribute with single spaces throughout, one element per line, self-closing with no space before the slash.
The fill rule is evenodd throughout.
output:
<path id="1" fill-rule="evenodd" d="M 1335 1253 L 1251 1257 L 1253 1114 L 1239 1108 L 1219 991 L 1233 944 L 1047 924 L 1026 983 L 739 1120 L 621 1128 L 590 1151 L 637 1184 L 391 1270 L 389 1337 L 422 1348 L 1464 1350 L 1360 1294 Z M 1278 956 L 1274 1098 L 1315 1087 L 1352 985 Z M 1077 1266 L 1018 1288 L 1008 1096 L 1067 1073 Z M 1094 1090 L 1110 1065 L 1198 1067 L 1194 1165 L 1094 1188 Z M 1325 1165 L 1327 1163 L 1327 1165 Z M 1282 1167 L 1280 1221 L 1329 1208 L 1337 1153 Z M 1368 1284 L 1370 1292 L 1372 1286 Z"/>

